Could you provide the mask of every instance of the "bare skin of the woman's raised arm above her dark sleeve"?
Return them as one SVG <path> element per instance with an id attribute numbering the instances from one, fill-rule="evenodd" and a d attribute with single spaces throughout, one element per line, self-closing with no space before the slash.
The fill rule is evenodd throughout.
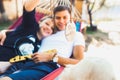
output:
<path id="1" fill-rule="evenodd" d="M 26 11 L 32 11 L 36 6 L 38 6 L 40 0 L 26 0 L 24 3 Z"/>

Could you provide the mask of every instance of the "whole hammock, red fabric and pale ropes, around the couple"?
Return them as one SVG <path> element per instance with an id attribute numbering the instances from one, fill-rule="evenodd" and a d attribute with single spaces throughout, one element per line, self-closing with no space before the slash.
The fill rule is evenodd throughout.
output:
<path id="1" fill-rule="evenodd" d="M 72 13 L 73 19 L 75 21 L 81 21 L 81 14 L 74 6 L 71 5 L 69 0 L 40 0 L 40 1 L 41 4 L 36 8 L 37 11 L 35 13 L 35 18 L 37 21 L 39 21 L 45 15 L 51 15 L 53 8 L 58 5 L 66 5 L 68 7 L 71 7 L 71 10 L 73 12 Z M 19 17 L 17 21 L 14 22 L 8 29 L 15 29 L 18 25 L 21 24 L 21 22 L 22 16 Z M 80 25 L 77 27 L 79 27 L 78 31 L 81 31 Z M 62 72 L 63 69 L 64 67 L 61 66 L 40 80 L 55 80 L 55 78 Z"/>

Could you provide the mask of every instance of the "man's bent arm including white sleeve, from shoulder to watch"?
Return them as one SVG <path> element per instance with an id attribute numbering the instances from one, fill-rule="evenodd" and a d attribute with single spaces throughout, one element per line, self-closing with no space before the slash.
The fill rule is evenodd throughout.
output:
<path id="1" fill-rule="evenodd" d="M 76 64 L 84 58 L 85 39 L 82 33 L 78 32 L 75 35 L 75 41 L 73 44 L 72 57 L 63 58 L 58 56 L 58 64 L 66 66 L 67 64 Z"/>

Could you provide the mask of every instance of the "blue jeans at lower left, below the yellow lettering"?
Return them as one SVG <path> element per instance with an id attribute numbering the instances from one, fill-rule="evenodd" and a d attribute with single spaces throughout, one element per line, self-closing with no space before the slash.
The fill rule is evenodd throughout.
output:
<path id="1" fill-rule="evenodd" d="M 13 64 L 4 74 L 13 80 L 40 80 L 58 66 L 54 62 L 18 62 Z"/>

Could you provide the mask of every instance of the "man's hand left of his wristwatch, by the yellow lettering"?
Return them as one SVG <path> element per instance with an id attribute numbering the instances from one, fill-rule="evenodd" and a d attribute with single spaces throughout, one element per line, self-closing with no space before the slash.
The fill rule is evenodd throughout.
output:
<path id="1" fill-rule="evenodd" d="M 54 57 L 53 54 L 38 53 L 38 52 L 36 52 L 32 55 L 32 59 L 35 63 L 48 62 L 48 61 L 52 60 L 53 57 Z"/>

